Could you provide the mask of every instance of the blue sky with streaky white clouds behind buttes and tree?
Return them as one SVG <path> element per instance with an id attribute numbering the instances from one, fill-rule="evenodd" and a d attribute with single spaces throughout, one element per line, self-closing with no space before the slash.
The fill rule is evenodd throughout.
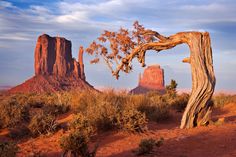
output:
<path id="1" fill-rule="evenodd" d="M 103 30 L 132 28 L 134 21 L 162 35 L 208 31 L 211 36 L 216 90 L 236 91 L 235 0 L 0 0 L 0 86 L 14 86 L 34 75 L 34 48 L 43 33 L 72 42 L 77 57 Z M 165 82 L 175 79 L 179 89 L 191 89 L 186 45 L 146 54 L 146 64 L 159 64 Z M 85 54 L 87 81 L 97 88 L 131 89 L 144 68 L 137 62 L 130 74 L 116 80 L 105 63 L 91 65 Z"/>

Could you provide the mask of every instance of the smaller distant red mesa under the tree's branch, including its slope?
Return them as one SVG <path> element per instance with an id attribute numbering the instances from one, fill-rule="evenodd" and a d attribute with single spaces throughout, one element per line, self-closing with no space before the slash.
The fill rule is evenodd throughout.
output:
<path id="1" fill-rule="evenodd" d="M 144 94 L 149 91 L 165 92 L 164 70 L 160 65 L 148 66 L 139 75 L 138 86 L 130 91 L 132 94 Z"/>

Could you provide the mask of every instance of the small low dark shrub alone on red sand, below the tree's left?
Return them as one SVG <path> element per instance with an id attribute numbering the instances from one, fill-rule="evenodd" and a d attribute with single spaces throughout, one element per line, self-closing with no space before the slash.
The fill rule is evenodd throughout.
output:
<path id="1" fill-rule="evenodd" d="M 152 138 L 142 139 L 139 143 L 139 148 L 135 153 L 137 155 L 150 154 L 153 151 L 154 147 L 160 147 L 163 144 L 163 141 L 163 138 L 160 138 L 159 140 L 155 140 Z"/>

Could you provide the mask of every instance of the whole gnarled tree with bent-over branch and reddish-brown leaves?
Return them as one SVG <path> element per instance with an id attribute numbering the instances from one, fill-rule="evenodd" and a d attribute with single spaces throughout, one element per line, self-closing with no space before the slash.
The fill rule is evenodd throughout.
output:
<path id="1" fill-rule="evenodd" d="M 187 44 L 190 57 L 183 59 L 183 62 L 191 65 L 192 92 L 180 127 L 206 125 L 210 118 L 210 100 L 215 88 L 209 33 L 180 32 L 165 37 L 156 31 L 145 29 L 137 21 L 133 26 L 133 31 L 124 28 L 118 32 L 104 31 L 98 42 L 93 41 L 86 49 L 89 54 L 95 56 L 91 63 L 97 63 L 103 58 L 118 79 L 120 71 L 129 73 L 132 70 L 133 58 L 137 58 L 142 66 L 145 66 L 145 54 L 148 50 L 160 52 L 179 44 Z M 106 48 L 107 43 L 110 45 L 110 51 Z"/>

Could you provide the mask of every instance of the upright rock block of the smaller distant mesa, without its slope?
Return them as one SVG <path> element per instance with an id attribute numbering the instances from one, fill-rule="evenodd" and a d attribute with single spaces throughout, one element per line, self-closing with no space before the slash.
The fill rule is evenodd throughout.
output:
<path id="1" fill-rule="evenodd" d="M 139 86 L 163 90 L 165 88 L 164 70 L 160 68 L 160 65 L 148 66 L 143 75 L 140 75 Z"/>

